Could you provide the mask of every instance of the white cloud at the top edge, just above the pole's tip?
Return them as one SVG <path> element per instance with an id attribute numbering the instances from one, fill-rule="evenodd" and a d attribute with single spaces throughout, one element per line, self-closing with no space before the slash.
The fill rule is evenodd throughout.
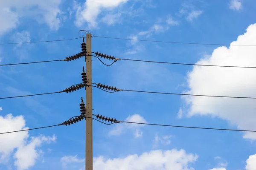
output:
<path id="1" fill-rule="evenodd" d="M 97 27 L 97 17 L 102 10 L 112 10 L 128 0 L 87 0 L 84 5 L 76 6 L 75 24 L 81 27 L 85 22 L 90 28 Z"/>

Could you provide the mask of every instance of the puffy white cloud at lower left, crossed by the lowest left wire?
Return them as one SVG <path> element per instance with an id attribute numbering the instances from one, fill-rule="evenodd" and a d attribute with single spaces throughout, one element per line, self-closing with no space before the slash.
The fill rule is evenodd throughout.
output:
<path id="1" fill-rule="evenodd" d="M 1 132 L 24 130 L 28 129 L 25 124 L 23 116 L 0 116 L 0 129 Z M 43 142 L 55 142 L 56 136 L 38 136 L 31 137 L 29 140 L 28 131 L 18 133 L 7 133 L 0 135 L 0 164 L 6 164 L 12 153 L 15 159 L 15 166 L 18 170 L 26 170 L 35 164 L 42 153 L 39 147 Z M 16 149 L 16 151 L 15 151 Z"/>

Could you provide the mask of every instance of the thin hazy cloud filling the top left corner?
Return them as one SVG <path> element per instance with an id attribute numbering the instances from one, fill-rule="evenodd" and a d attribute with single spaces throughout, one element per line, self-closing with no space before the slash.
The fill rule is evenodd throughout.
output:
<path id="1" fill-rule="evenodd" d="M 16 28 L 20 17 L 33 17 L 39 23 L 46 23 L 51 29 L 60 27 L 61 0 L 1 0 L 0 1 L 0 35 Z"/>

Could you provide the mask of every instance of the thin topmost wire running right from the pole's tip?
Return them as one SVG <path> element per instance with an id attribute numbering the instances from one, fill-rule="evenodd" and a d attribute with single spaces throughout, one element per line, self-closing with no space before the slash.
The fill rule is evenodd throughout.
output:
<path id="1" fill-rule="evenodd" d="M 132 41 L 146 41 L 146 42 L 163 42 L 163 43 L 173 43 L 173 44 L 192 44 L 192 45 L 223 45 L 223 46 L 256 46 L 250 44 L 211 44 L 211 43 L 193 43 L 193 42 L 174 42 L 174 41 L 155 41 L 155 40 L 137 40 L 137 39 L 129 39 L 129 38 L 116 38 L 116 37 L 103 37 L 103 36 L 96 36 L 99 38 L 108 38 L 108 39 L 116 39 L 116 40 L 132 40 Z"/>

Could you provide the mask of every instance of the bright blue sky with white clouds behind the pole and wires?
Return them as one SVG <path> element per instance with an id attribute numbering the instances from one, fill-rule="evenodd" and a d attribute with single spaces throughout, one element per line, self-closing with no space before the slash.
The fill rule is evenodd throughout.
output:
<path id="1" fill-rule="evenodd" d="M 96 36 L 256 44 L 254 0 L 9 0 L 0 2 L 0 42 Z M 253 46 L 189 45 L 92 38 L 93 51 L 119 58 L 255 66 Z M 1 45 L 0 63 L 64 59 L 81 39 Z M 111 63 L 104 60 L 106 63 Z M 84 59 L 0 67 L 0 97 L 62 91 L 81 82 Z M 256 96 L 246 68 L 209 68 L 93 58 L 93 82 L 121 89 Z M 0 132 L 55 125 L 80 114 L 84 90 L 0 101 Z M 256 129 L 252 99 L 93 90 L 93 113 L 169 125 Z M 95 170 L 255 170 L 254 133 L 93 122 Z M 0 169 L 84 169 L 85 123 L 0 135 Z M 138 164 L 140 166 L 138 166 Z"/>

